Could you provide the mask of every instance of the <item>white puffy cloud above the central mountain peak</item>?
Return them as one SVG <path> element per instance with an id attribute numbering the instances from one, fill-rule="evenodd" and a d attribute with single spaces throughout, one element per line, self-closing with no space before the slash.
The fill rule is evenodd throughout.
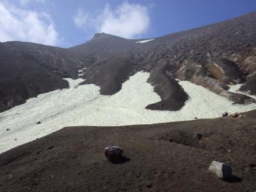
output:
<path id="1" fill-rule="evenodd" d="M 147 31 L 150 18 L 146 6 L 125 2 L 116 10 L 107 4 L 102 13 L 96 16 L 79 9 L 74 17 L 74 23 L 87 31 L 94 29 L 99 33 L 134 38 Z"/>

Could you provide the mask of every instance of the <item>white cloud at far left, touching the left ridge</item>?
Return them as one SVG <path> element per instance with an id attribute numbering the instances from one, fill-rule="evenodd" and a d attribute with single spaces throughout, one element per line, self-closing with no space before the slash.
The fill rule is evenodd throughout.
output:
<path id="1" fill-rule="evenodd" d="M 58 33 L 50 15 L 0 2 L 0 42 L 20 40 L 56 45 Z"/>

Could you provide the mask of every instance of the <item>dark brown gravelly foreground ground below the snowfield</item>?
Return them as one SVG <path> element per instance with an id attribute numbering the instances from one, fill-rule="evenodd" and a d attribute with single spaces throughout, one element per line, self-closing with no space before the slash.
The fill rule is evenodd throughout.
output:
<path id="1" fill-rule="evenodd" d="M 255 191 L 255 117 L 66 127 L 1 154 L 0 191 Z M 106 159 L 109 145 L 124 148 L 123 162 Z M 234 177 L 209 173 L 213 160 Z"/>

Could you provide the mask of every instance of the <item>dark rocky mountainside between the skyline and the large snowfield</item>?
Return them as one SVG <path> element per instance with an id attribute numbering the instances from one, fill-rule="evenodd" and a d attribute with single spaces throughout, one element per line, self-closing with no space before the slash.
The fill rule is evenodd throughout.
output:
<path id="1" fill-rule="evenodd" d="M 129 76 L 150 72 L 148 83 L 161 102 L 148 109 L 176 111 L 188 94 L 177 79 L 191 81 L 237 104 L 255 102 L 228 85 L 256 95 L 256 12 L 154 38 L 148 42 L 127 40 L 104 33 L 69 49 L 26 42 L 0 44 L 0 111 L 22 104 L 30 97 L 67 88 L 63 77 L 79 77 L 100 86 L 104 95 L 122 88 Z"/>

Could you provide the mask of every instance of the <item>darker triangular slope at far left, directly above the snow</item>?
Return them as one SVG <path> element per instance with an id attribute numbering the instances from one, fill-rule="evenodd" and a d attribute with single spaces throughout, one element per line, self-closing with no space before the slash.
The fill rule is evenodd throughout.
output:
<path id="1" fill-rule="evenodd" d="M 22 104 L 40 93 L 67 87 L 67 81 L 54 71 L 0 44 L 0 111 Z"/>

